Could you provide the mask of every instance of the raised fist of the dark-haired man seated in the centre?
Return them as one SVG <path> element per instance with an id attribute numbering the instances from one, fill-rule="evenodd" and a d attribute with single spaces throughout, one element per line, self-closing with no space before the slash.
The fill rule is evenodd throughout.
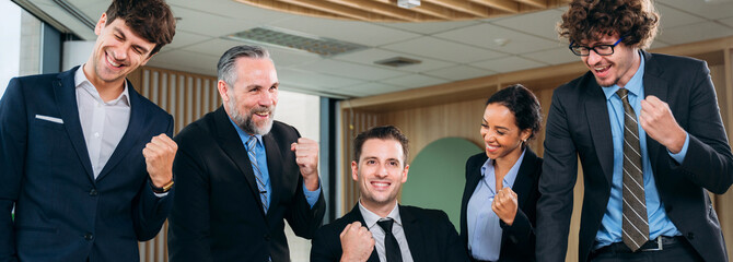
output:
<path id="1" fill-rule="evenodd" d="M 339 236 L 341 239 L 341 261 L 366 261 L 374 250 L 374 238 L 360 222 L 346 225 Z"/>

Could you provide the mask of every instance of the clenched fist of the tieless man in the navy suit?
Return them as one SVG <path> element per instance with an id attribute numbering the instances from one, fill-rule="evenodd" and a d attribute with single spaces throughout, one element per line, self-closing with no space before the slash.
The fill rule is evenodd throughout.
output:
<path id="1" fill-rule="evenodd" d="M 162 188 L 173 180 L 173 159 L 178 145 L 164 133 L 153 136 L 142 150 L 150 180 L 155 187 Z"/>

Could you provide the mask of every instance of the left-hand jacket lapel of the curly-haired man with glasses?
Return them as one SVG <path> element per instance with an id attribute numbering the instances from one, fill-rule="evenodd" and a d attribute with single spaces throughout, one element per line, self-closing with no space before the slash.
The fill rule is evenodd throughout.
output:
<path id="1" fill-rule="evenodd" d="M 595 154 L 598 156 L 606 181 L 610 184 L 614 171 L 614 144 L 610 134 L 608 107 L 603 90 L 592 78 L 592 75 L 586 75 L 589 85 L 585 87 L 584 97 L 581 97 L 580 100 L 585 100 L 585 117 L 591 130 L 593 145 L 595 145 Z"/>

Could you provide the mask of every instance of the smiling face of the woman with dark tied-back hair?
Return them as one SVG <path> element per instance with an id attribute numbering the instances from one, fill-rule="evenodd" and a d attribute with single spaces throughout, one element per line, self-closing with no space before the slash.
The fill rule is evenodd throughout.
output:
<path id="1" fill-rule="evenodd" d="M 514 114 L 505 106 L 492 103 L 484 110 L 480 133 L 489 158 L 515 162 L 522 155 L 522 141 L 530 138 L 532 130 L 520 130 Z"/>

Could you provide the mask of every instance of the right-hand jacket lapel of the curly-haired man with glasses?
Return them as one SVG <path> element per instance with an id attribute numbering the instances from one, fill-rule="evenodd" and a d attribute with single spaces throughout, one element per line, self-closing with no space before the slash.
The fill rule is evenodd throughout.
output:
<path id="1" fill-rule="evenodd" d="M 641 59 L 644 59 L 644 78 L 643 78 L 643 84 L 644 84 L 644 96 L 656 96 L 660 98 L 660 100 L 663 100 L 665 103 L 670 103 L 667 100 L 667 82 L 666 80 L 660 78 L 662 74 L 661 70 L 662 68 L 656 64 L 656 61 L 652 60 L 652 55 L 645 51 L 641 52 Z M 670 108 L 673 108 L 672 105 L 670 105 Z M 660 150 L 662 150 L 663 146 L 653 140 L 652 138 L 647 134 L 647 155 L 649 155 L 650 162 L 656 163 L 658 155 L 660 153 Z"/>

